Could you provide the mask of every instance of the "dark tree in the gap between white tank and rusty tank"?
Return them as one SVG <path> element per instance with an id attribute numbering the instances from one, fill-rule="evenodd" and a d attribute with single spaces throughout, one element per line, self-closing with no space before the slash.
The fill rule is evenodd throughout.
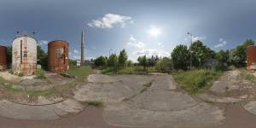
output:
<path id="1" fill-rule="evenodd" d="M 37 47 L 37 58 L 38 64 L 40 64 L 42 68 L 47 69 L 48 55 L 44 52 L 44 49 L 42 49 L 41 46 Z"/>

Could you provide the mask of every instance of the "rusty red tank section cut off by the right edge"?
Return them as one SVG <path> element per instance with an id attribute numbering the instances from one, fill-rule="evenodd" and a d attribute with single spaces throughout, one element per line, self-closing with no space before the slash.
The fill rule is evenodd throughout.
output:
<path id="1" fill-rule="evenodd" d="M 256 71 L 256 46 L 247 47 L 247 70 Z"/>

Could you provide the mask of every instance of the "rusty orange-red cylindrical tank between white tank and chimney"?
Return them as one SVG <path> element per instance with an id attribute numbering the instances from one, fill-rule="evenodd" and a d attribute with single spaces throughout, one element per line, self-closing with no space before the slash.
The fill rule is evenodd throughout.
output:
<path id="1" fill-rule="evenodd" d="M 55 40 L 48 44 L 48 70 L 59 73 L 68 69 L 68 43 Z"/>

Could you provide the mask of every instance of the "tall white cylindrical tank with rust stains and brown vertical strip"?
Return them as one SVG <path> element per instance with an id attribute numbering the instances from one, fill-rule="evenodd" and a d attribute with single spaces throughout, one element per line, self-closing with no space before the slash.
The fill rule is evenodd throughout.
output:
<path id="1" fill-rule="evenodd" d="M 32 75 L 37 71 L 37 40 L 22 35 L 12 44 L 12 70 L 15 74 Z"/>

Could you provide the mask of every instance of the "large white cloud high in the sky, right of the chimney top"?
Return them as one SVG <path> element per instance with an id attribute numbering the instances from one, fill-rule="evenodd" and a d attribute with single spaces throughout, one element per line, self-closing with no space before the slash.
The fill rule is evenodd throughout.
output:
<path id="1" fill-rule="evenodd" d="M 92 20 L 87 25 L 91 27 L 112 28 L 114 25 L 125 27 L 127 22 L 133 24 L 133 20 L 131 20 L 130 16 L 107 14 L 102 18 Z"/>

